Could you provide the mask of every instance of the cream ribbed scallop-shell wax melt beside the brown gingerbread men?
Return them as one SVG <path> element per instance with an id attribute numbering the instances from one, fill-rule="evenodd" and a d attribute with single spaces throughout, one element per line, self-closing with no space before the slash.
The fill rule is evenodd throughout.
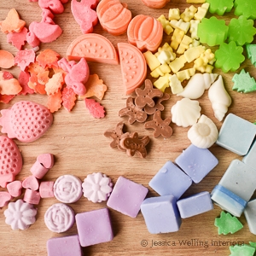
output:
<path id="1" fill-rule="evenodd" d="M 172 106 L 172 123 L 183 127 L 195 125 L 197 119 L 200 118 L 200 112 L 201 107 L 199 106 L 199 102 L 192 101 L 189 98 L 183 98 Z"/>

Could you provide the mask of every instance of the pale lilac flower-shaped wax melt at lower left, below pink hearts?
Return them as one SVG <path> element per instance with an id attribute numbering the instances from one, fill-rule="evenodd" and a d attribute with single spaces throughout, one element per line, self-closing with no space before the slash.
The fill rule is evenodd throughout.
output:
<path id="1" fill-rule="evenodd" d="M 22 199 L 9 202 L 8 209 L 3 212 L 5 223 L 9 224 L 12 230 L 26 230 L 36 221 L 37 210 L 32 204 Z"/>

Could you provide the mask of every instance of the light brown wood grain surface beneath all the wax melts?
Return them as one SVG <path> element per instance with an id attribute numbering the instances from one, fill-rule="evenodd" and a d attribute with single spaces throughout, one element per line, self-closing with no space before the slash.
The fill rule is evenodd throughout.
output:
<path id="1" fill-rule="evenodd" d="M 161 14 L 167 17 L 168 10 L 171 8 L 179 8 L 183 12 L 190 5 L 185 0 L 171 0 L 164 9 L 149 9 L 140 0 L 127 0 L 126 3 L 128 3 L 128 8 L 131 9 L 133 16 L 143 14 L 155 18 L 158 18 Z M 54 49 L 61 57 L 66 57 L 68 45 L 73 39 L 82 34 L 79 25 L 73 19 L 70 1 L 64 6 L 64 13 L 55 15 L 55 22 L 63 30 L 61 37 L 51 44 L 41 44 L 40 46 L 40 50 Z M 195 6 L 200 5 L 195 4 Z M 30 3 L 28 0 L 1 0 L 0 20 L 5 19 L 9 9 L 12 8 L 19 12 L 22 20 L 26 20 L 26 26 L 33 20 L 41 20 L 41 9 L 38 7 L 38 3 Z M 207 16 L 210 17 L 211 15 L 208 14 Z M 218 18 L 224 19 L 228 25 L 232 17 L 235 17 L 233 11 Z M 104 32 L 100 24 L 95 26 L 94 32 L 107 37 L 115 47 L 119 42 L 127 42 L 125 34 L 114 37 L 108 32 Z M 164 42 L 170 42 L 170 36 L 165 35 Z M 0 33 L 0 49 L 7 49 L 14 55 L 17 52 L 14 46 L 7 43 L 6 35 L 2 32 Z M 237 73 L 241 71 L 241 68 L 245 68 L 256 78 L 255 67 L 247 59 L 245 51 L 244 55 L 246 61 L 241 64 Z M 189 146 L 190 142 L 187 138 L 189 128 L 177 127 L 177 125 L 171 124 L 173 135 L 165 139 L 163 137 L 154 138 L 153 131 L 145 130 L 142 124 L 129 125 L 126 118 L 119 117 L 119 110 L 125 108 L 127 98 L 124 93 L 120 67 L 92 62 L 89 63 L 89 66 L 90 73 L 97 73 L 108 85 L 108 91 L 101 101 L 106 108 L 106 117 L 104 119 L 94 119 L 84 107 L 84 101 L 78 101 L 71 113 L 68 113 L 64 108 L 54 113 L 52 127 L 44 134 L 44 137 L 36 142 L 20 143 L 15 140 L 24 160 L 24 166 L 17 179 L 22 180 L 22 178 L 31 174 L 29 170 L 38 154 L 51 153 L 55 155 L 55 166 L 47 173 L 44 180 L 55 181 L 57 177 L 64 174 L 73 174 L 84 180 L 84 177 L 92 172 L 102 172 L 111 177 L 113 183 L 121 175 L 136 183 L 142 183 L 149 189 L 148 197 L 157 196 L 154 190 L 149 188 L 148 182 L 167 160 L 174 161 L 183 149 Z M 20 70 L 14 67 L 10 72 L 17 77 Z M 214 69 L 214 72 L 223 75 L 225 87 L 232 98 L 233 102 L 229 108 L 229 113 L 235 113 L 243 119 L 254 122 L 256 120 L 256 94 L 241 94 L 233 91 L 231 79 L 235 73 L 221 73 L 219 69 Z M 148 79 L 150 79 L 149 72 Z M 166 108 L 163 113 L 165 118 L 171 115 L 170 109 L 180 99 L 181 97 L 172 95 L 171 99 L 165 102 Z M 20 100 L 29 100 L 45 105 L 47 96 L 16 96 L 9 104 L 0 103 L 0 108 L 9 108 Z M 199 102 L 201 113 L 211 118 L 219 129 L 222 122 L 218 122 L 214 118 L 207 92 L 199 99 Z M 137 131 L 140 136 L 148 135 L 150 137 L 146 159 L 140 159 L 137 156 L 129 157 L 124 152 L 109 147 L 111 139 L 104 137 L 103 133 L 107 129 L 113 128 L 121 120 L 125 122 L 125 131 Z M 218 166 L 201 183 L 192 184 L 183 197 L 201 191 L 212 191 L 230 165 L 230 161 L 241 160 L 241 156 L 217 145 L 213 145 L 210 150 L 218 158 Z M 54 198 L 42 199 L 37 206 L 36 223 L 32 224 L 29 229 L 22 231 L 11 230 L 10 226 L 5 224 L 3 216 L 6 207 L 0 209 L 0 255 L 47 255 L 46 241 L 49 238 L 77 234 L 76 224 L 73 225 L 71 230 L 63 234 L 52 233 L 45 226 L 44 212 L 56 202 L 57 200 Z M 106 202 L 92 203 L 82 197 L 70 206 L 77 213 L 87 212 L 106 207 Z M 229 255 L 230 244 L 256 241 L 255 236 L 249 232 L 243 215 L 240 218 L 241 223 L 244 224 L 242 230 L 234 235 L 218 236 L 218 230 L 214 226 L 214 218 L 218 217 L 220 212 L 221 209 L 214 206 L 214 210 L 211 212 L 183 219 L 180 230 L 175 233 L 151 235 L 148 233 L 141 212 L 137 215 L 137 218 L 130 218 L 110 209 L 114 233 L 113 241 L 84 247 L 84 255 Z"/>

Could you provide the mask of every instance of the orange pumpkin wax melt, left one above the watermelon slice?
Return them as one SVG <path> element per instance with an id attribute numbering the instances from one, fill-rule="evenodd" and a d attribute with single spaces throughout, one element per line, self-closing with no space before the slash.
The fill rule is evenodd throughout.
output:
<path id="1" fill-rule="evenodd" d="M 102 0 L 96 13 L 103 29 L 113 36 L 126 32 L 131 21 L 131 11 L 127 9 L 126 3 L 120 3 L 119 0 Z"/>

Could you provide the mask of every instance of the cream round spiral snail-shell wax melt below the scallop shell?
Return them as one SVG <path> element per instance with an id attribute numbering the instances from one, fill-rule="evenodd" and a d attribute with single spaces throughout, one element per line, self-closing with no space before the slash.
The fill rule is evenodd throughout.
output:
<path id="1" fill-rule="evenodd" d="M 198 122 L 189 129 L 188 138 L 198 148 L 210 148 L 218 139 L 218 129 L 212 119 L 202 114 Z"/>

